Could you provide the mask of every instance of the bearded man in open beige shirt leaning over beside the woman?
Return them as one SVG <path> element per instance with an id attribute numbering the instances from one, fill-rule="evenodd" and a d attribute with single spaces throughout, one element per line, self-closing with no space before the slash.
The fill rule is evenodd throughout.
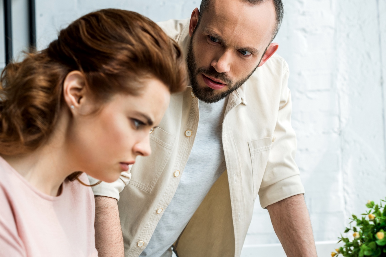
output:
<path id="1" fill-rule="evenodd" d="M 99 256 L 238 257 L 257 195 L 287 256 L 317 256 L 288 65 L 272 43 L 282 17 L 281 0 L 203 0 L 190 19 L 159 23 L 191 87 L 151 131 L 152 155 L 93 188 Z"/>

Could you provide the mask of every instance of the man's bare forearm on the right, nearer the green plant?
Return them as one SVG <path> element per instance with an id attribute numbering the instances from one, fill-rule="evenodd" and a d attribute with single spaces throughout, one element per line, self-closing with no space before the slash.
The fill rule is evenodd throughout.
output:
<path id="1" fill-rule="evenodd" d="M 317 256 L 310 215 L 302 194 L 269 205 L 267 209 L 288 257 Z"/>

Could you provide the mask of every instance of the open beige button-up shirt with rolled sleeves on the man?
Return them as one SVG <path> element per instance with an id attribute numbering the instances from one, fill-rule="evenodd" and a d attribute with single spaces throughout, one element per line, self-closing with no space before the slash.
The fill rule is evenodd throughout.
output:
<path id="1" fill-rule="evenodd" d="M 186 56 L 189 19 L 158 25 Z M 257 194 L 265 208 L 304 193 L 294 160 L 288 76 L 285 60 L 273 55 L 230 94 L 222 127 L 227 171 L 174 243 L 179 257 L 240 256 Z M 173 94 L 161 124 L 150 134 L 151 156 L 137 157 L 130 173 L 122 173 L 114 183 L 93 187 L 95 195 L 119 200 L 126 257 L 141 254 L 171 202 L 195 140 L 198 118 L 198 99 L 190 87 Z"/>

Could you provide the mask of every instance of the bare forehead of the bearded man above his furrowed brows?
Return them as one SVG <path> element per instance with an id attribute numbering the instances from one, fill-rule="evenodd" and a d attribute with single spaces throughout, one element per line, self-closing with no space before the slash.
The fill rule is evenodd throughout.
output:
<path id="1" fill-rule="evenodd" d="M 204 31 L 257 49 L 265 49 L 276 25 L 275 8 L 269 0 L 257 5 L 244 0 L 211 0 L 201 18 Z"/>

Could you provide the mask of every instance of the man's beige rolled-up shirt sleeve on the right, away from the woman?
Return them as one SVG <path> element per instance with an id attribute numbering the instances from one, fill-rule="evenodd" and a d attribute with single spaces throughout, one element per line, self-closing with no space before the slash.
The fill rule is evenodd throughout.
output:
<path id="1" fill-rule="evenodd" d="M 295 163 L 296 135 L 291 126 L 291 92 L 288 89 L 288 66 L 284 62 L 283 82 L 278 119 L 274 130 L 275 140 L 269 153 L 266 170 L 259 190 L 262 208 L 285 198 L 304 194 L 304 187 Z"/>

